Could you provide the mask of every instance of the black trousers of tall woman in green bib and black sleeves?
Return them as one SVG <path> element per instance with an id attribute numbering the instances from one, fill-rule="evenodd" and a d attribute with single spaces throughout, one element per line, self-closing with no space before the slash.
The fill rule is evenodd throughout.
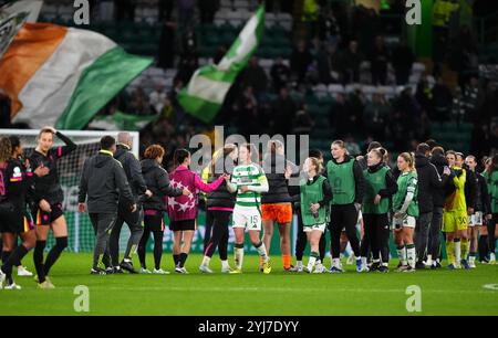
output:
<path id="1" fill-rule="evenodd" d="M 360 240 L 356 235 L 357 211 L 353 203 L 332 205 L 329 230 L 331 232 L 332 258 L 341 254 L 341 232 L 344 229 L 356 257 L 361 256 Z"/>

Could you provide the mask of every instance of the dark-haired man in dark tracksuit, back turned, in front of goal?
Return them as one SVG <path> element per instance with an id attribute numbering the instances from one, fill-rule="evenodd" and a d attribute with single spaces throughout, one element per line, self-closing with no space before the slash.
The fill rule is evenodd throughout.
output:
<path id="1" fill-rule="evenodd" d="M 117 202 L 122 207 L 126 205 L 131 212 L 136 212 L 137 209 L 123 167 L 113 158 L 115 151 L 115 139 L 104 136 L 98 154 L 85 161 L 80 181 L 79 211 L 85 212 L 87 209 L 96 235 L 91 270 L 94 275 L 106 274 L 98 263 L 107 251 L 110 233 L 116 220 Z M 107 272 L 113 271 L 108 268 Z"/>

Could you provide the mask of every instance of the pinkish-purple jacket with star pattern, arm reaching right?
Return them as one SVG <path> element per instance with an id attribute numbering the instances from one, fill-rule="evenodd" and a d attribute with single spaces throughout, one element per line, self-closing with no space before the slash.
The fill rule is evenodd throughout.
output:
<path id="1" fill-rule="evenodd" d="M 194 171 L 185 166 L 178 166 L 169 173 L 169 181 L 173 188 L 187 188 L 191 193 L 189 196 L 167 197 L 166 205 L 169 221 L 195 220 L 197 218 L 199 191 L 211 192 L 222 183 L 224 178 L 219 177 L 216 181 L 207 184 Z"/>

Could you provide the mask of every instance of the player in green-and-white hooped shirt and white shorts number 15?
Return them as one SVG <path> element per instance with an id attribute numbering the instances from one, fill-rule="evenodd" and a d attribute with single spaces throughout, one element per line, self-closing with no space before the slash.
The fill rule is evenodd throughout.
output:
<path id="1" fill-rule="evenodd" d="M 251 144 L 239 147 L 239 166 L 234 169 L 229 191 L 237 191 L 236 205 L 234 208 L 234 232 L 236 236 L 235 261 L 236 270 L 231 273 L 242 272 L 243 236 L 246 228 L 252 245 L 263 261 L 263 273 L 271 272 L 270 257 L 267 254 L 264 243 L 260 240 L 261 232 L 261 193 L 269 189 L 264 171 L 252 161 L 258 150 Z"/>

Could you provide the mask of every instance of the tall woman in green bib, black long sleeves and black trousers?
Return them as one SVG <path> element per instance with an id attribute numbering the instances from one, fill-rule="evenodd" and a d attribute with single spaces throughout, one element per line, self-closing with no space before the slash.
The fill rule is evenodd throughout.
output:
<path id="1" fill-rule="evenodd" d="M 345 229 L 356 257 L 356 271 L 363 272 L 365 267 L 362 264 L 360 240 L 356 235 L 356 222 L 365 192 L 363 170 L 357 161 L 349 156 L 344 141 L 333 141 L 331 152 L 332 160 L 326 163 L 326 176 L 332 189 L 330 212 L 332 266 L 330 272 L 342 272 L 340 261 L 342 229 Z"/>

